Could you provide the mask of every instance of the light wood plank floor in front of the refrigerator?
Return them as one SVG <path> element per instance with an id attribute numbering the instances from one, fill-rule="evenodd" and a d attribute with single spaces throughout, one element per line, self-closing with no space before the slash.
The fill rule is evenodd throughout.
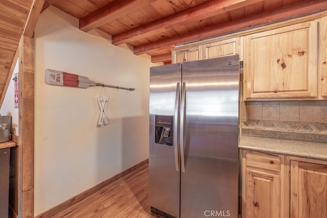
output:
<path id="1" fill-rule="evenodd" d="M 161 217 L 150 212 L 148 184 L 145 164 L 53 217 Z"/>

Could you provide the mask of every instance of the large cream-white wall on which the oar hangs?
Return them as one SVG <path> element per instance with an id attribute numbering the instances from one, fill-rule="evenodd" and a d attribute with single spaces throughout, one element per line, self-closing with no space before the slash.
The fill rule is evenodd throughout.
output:
<path id="1" fill-rule="evenodd" d="M 77 18 L 50 7 L 35 30 L 35 215 L 148 158 L 154 64 L 78 25 Z M 106 88 L 110 124 L 98 127 L 102 87 L 48 85 L 46 68 L 136 90 Z"/>

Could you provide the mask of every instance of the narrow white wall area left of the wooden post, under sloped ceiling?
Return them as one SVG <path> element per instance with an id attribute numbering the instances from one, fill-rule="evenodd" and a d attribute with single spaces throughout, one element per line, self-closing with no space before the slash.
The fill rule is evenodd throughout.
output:
<path id="1" fill-rule="evenodd" d="M 18 67 L 19 66 L 18 66 L 18 60 L 17 60 L 13 74 L 18 72 Z M 9 77 L 13 78 L 14 75 L 9 75 Z M 13 135 L 18 136 L 18 108 L 15 108 L 14 92 L 15 92 L 14 81 L 10 80 L 4 102 L 0 109 L 0 114 L 2 116 L 11 116 L 11 126 L 12 126 L 11 133 Z"/>

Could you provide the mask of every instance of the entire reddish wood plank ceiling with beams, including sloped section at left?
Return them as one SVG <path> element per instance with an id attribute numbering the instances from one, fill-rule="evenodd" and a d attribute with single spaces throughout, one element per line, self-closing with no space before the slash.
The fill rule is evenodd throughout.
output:
<path id="1" fill-rule="evenodd" d="M 178 44 L 327 10 L 326 0 L 0 0 L 0 95 L 35 1 L 79 18 L 81 31 L 97 28 L 112 44 L 164 63 Z"/>

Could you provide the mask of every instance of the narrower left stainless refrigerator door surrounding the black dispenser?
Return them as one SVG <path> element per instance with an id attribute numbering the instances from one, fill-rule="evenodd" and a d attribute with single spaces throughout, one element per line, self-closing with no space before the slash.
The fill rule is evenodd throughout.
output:
<path id="1" fill-rule="evenodd" d="M 181 64 L 150 69 L 149 204 L 179 217 L 178 106 Z M 175 105 L 177 104 L 177 109 Z M 176 109 L 176 111 L 175 111 Z M 175 116 L 176 113 L 176 116 Z M 155 118 L 173 117 L 173 145 L 155 143 Z M 177 119 L 177 120 L 176 120 Z M 166 125 L 168 120 L 157 120 Z M 177 121 L 177 122 L 175 122 Z M 170 121 L 169 121 L 170 122 Z"/>

